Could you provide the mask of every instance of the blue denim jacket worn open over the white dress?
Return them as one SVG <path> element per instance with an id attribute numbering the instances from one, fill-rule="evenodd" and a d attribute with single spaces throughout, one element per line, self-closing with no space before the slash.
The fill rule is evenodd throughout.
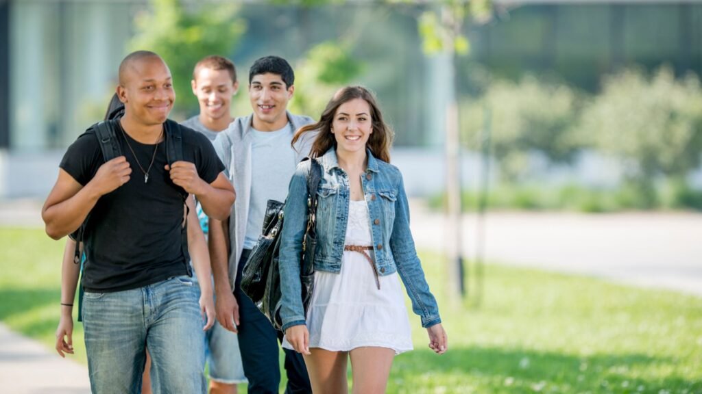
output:
<path id="1" fill-rule="evenodd" d="M 362 187 L 368 204 L 373 238 L 370 253 L 378 276 L 396 271 L 412 301 L 412 310 L 420 315 L 423 327 L 441 322 L 437 301 L 420 265 L 409 231 L 409 206 L 402 174 L 394 166 L 368 154 L 368 168 Z M 322 166 L 322 180 L 317 189 L 317 250 L 314 270 L 339 273 L 348 222 L 350 186 L 348 175 L 329 149 L 317 159 Z M 307 175 L 310 161 L 298 165 L 290 181 L 284 208 L 285 224 L 281 233 L 279 269 L 281 276 L 283 330 L 305 324 L 301 299 L 300 254 L 307 224 Z"/>

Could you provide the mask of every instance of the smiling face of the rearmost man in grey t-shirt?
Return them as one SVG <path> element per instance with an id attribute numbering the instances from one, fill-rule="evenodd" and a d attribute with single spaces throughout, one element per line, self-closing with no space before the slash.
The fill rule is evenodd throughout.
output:
<path id="1" fill-rule="evenodd" d="M 213 121 L 229 118 L 232 96 L 239 88 L 239 83 L 232 81 L 230 72 L 203 67 L 191 84 L 192 93 L 200 104 L 200 114 Z"/>

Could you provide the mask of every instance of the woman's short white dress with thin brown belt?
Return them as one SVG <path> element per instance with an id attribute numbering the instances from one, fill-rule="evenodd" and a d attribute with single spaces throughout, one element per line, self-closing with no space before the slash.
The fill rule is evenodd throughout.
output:
<path id="1" fill-rule="evenodd" d="M 350 201 L 345 245 L 373 245 L 366 201 Z M 368 250 L 371 257 L 373 250 Z M 412 350 L 404 292 L 397 273 L 380 276 L 360 252 L 344 251 L 340 273 L 316 271 L 307 311 L 310 348 L 350 351 L 362 346 Z M 283 344 L 291 348 L 287 341 Z"/>

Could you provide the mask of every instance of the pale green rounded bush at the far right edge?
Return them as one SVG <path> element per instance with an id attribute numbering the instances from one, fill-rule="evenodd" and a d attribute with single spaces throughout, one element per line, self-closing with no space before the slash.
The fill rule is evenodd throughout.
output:
<path id="1" fill-rule="evenodd" d="M 700 81 L 676 80 L 667 67 L 650 78 L 635 69 L 610 76 L 583 111 L 579 133 L 620 159 L 628 182 L 655 205 L 658 177 L 684 177 L 700 165 Z"/>

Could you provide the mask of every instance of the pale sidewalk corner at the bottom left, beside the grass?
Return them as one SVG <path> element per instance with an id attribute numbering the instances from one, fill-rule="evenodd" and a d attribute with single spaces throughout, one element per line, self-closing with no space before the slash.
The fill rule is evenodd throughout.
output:
<path id="1" fill-rule="evenodd" d="M 89 394 L 88 367 L 64 360 L 0 322 L 0 391 L 12 394 Z"/>

